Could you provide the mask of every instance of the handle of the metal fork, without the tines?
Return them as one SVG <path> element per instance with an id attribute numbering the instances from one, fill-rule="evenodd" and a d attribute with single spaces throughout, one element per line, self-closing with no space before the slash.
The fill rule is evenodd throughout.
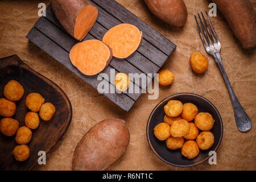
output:
<path id="1" fill-rule="evenodd" d="M 222 58 L 220 56 L 220 53 L 215 53 L 214 58 L 216 60 L 216 63 L 218 64 L 218 67 L 220 68 L 221 74 L 225 80 L 226 86 L 229 90 L 229 95 L 232 101 L 233 109 L 234 109 L 234 116 L 236 119 L 236 124 L 238 130 L 241 132 L 246 132 L 251 129 L 251 119 L 246 114 L 245 110 L 243 109 L 242 105 L 238 101 L 238 98 L 236 94 L 234 93 L 234 90 L 230 84 L 229 78 L 226 75 L 226 71 L 224 69 L 224 66 L 222 64 Z"/>

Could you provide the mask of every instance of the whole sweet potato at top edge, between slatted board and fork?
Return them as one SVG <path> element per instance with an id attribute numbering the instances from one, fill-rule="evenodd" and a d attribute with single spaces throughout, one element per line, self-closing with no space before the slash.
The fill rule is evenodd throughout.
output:
<path id="1" fill-rule="evenodd" d="M 188 11 L 183 0 L 144 0 L 152 14 L 175 27 L 184 26 Z"/>

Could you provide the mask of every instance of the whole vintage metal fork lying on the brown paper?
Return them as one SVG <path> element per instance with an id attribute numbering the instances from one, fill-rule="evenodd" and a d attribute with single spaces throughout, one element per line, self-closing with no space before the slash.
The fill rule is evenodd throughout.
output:
<path id="1" fill-rule="evenodd" d="M 213 55 L 216 63 L 218 64 L 218 67 L 220 68 L 220 71 L 221 71 L 221 74 L 222 74 L 222 76 L 225 80 L 226 86 L 228 87 L 229 95 L 230 95 L 232 105 L 233 105 L 233 109 L 234 109 L 234 116 L 236 118 L 236 124 L 237 124 L 238 130 L 240 130 L 241 132 L 249 131 L 251 129 L 251 119 L 246 114 L 245 110 L 243 109 L 240 102 L 238 101 L 238 98 L 237 98 L 236 94 L 234 93 L 234 90 L 233 90 L 233 88 L 232 88 L 232 86 L 229 82 L 229 78 L 226 75 L 225 69 L 224 69 L 223 64 L 222 64 L 222 58 L 221 58 L 221 55 L 220 55 L 220 49 L 221 49 L 220 41 L 218 40 L 218 36 L 217 36 L 213 26 L 212 26 L 212 22 L 210 22 L 210 18 L 207 14 L 207 11 L 205 11 L 205 13 L 207 15 L 208 22 L 209 22 L 210 27 L 212 29 L 212 33 L 214 35 L 215 41 L 214 41 L 213 35 L 210 32 L 209 27 L 207 25 L 207 21 L 204 18 L 204 14 L 201 12 L 201 15 L 203 17 L 204 24 L 205 24 L 205 27 L 207 29 L 208 34 L 205 31 L 205 27 L 204 27 L 204 24 L 201 20 L 200 14 L 197 13 L 197 15 L 199 17 L 200 24 L 201 24 L 201 27 L 202 27 L 203 32 L 204 32 L 205 39 L 207 40 L 208 44 L 205 43 L 204 36 L 201 32 L 199 23 L 197 22 L 196 15 L 194 15 L 195 19 L 196 19 L 196 24 L 197 24 L 197 28 L 199 30 L 200 37 L 201 37 L 202 42 L 204 44 L 204 48 L 207 51 L 207 53 L 209 53 L 210 55 Z M 210 37 L 210 40 L 209 40 L 209 37 Z"/>

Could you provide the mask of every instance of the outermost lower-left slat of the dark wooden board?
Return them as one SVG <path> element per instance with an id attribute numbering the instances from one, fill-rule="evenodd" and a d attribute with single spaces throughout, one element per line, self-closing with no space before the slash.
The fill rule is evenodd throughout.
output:
<path id="1" fill-rule="evenodd" d="M 82 80 L 93 86 L 93 88 L 97 89 L 98 84 L 101 82 L 97 80 L 98 76 L 85 76 L 84 74 L 82 74 L 76 67 L 72 65 L 71 61 L 69 60 L 69 53 L 61 48 L 59 45 L 57 45 L 55 42 L 53 42 L 51 39 L 47 38 L 47 36 L 36 30 L 36 28 L 32 28 L 30 33 L 27 35 L 27 38 L 30 39 L 31 42 L 36 44 L 36 46 L 42 48 L 43 51 L 47 52 L 54 59 L 58 60 L 70 71 L 75 73 L 75 75 L 79 76 L 80 78 L 82 78 Z M 109 86 L 113 88 L 113 85 L 109 84 Z M 126 111 L 129 111 L 135 103 L 135 101 L 133 101 L 125 94 L 110 93 L 104 94 L 104 96 L 108 97 L 115 104 L 118 103 L 118 106 Z"/>

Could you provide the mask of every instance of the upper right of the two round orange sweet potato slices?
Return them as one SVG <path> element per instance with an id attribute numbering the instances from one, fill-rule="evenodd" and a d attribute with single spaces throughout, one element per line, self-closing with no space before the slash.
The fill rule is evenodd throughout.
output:
<path id="1" fill-rule="evenodd" d="M 112 48 L 113 56 L 126 58 L 134 53 L 142 42 L 142 32 L 132 24 L 122 23 L 112 27 L 102 42 Z"/>

